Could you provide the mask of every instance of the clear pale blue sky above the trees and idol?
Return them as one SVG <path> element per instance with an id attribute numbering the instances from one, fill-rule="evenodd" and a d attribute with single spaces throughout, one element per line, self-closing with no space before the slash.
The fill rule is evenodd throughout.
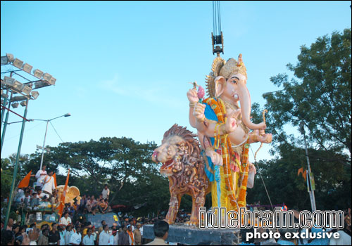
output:
<path id="1" fill-rule="evenodd" d="M 243 54 L 252 103 L 264 105 L 262 94 L 279 89 L 270 77 L 296 63 L 301 45 L 351 28 L 350 5 L 221 1 L 222 58 Z M 1 56 L 12 53 L 57 79 L 38 90 L 27 118 L 70 112 L 52 121 L 63 141 L 126 136 L 160 144 L 174 123 L 191 129 L 186 93 L 189 82 L 205 85 L 215 58 L 211 32 L 211 1 L 1 1 Z M 23 115 L 24 108 L 14 111 Z M 8 122 L 18 120 L 11 114 Z M 17 152 L 20 127 L 8 125 L 1 157 Z M 45 128 L 46 122 L 25 124 L 21 153 L 43 144 Z M 49 124 L 46 145 L 58 143 Z M 257 160 L 269 159 L 269 148 Z"/>

